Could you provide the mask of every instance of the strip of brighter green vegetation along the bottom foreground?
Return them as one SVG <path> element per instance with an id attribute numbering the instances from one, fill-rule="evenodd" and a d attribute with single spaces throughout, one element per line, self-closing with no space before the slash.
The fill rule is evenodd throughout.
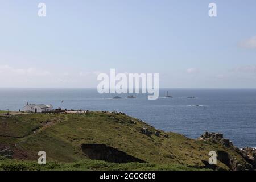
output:
<path id="1" fill-rule="evenodd" d="M 80 160 L 74 163 L 47 162 L 38 165 L 35 161 L 1 159 L 0 171 L 198 171 L 181 164 L 110 163 L 102 160 Z M 209 170 L 209 169 L 208 169 Z"/>

